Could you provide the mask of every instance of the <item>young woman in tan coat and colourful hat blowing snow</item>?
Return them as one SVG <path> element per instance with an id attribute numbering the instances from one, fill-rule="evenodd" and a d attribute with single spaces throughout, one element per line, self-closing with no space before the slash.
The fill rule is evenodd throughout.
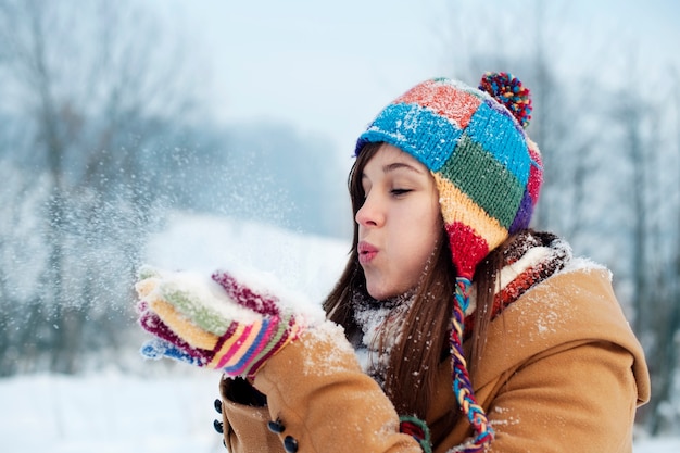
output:
<path id="1" fill-rule="evenodd" d="M 609 272 L 529 229 L 529 112 L 505 73 L 417 85 L 357 141 L 327 319 L 227 273 L 146 273 L 144 354 L 224 373 L 235 453 L 631 452 L 643 352 Z"/>

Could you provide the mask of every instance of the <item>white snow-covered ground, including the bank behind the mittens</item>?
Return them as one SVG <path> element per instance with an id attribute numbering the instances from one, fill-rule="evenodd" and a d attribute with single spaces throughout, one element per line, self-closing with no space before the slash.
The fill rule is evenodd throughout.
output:
<path id="1" fill-rule="evenodd" d="M 341 273 L 348 243 L 254 224 L 179 215 L 149 247 L 161 267 L 243 264 L 269 270 L 291 289 L 323 298 Z M 225 451 L 212 424 L 215 372 L 146 363 L 144 373 L 0 379 L 3 453 L 213 453 Z M 129 361 L 126 361 L 129 362 Z M 152 373 L 149 373 L 149 369 Z M 635 453 L 680 452 L 680 437 L 644 439 Z"/>

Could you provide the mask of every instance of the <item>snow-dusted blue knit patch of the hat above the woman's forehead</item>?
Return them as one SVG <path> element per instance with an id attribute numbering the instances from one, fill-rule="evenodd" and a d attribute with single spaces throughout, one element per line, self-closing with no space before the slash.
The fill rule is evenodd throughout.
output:
<path id="1" fill-rule="evenodd" d="M 358 138 L 406 151 L 432 172 L 449 160 L 463 131 L 448 118 L 415 104 L 388 105 Z"/>

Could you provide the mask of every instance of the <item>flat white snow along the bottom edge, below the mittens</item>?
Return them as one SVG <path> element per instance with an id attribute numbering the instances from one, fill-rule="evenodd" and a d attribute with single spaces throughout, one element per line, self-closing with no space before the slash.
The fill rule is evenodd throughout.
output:
<path id="1" fill-rule="evenodd" d="M 203 373 L 198 373 L 203 372 Z M 212 424 L 218 376 L 34 376 L 0 380 L 4 453 L 224 452 Z M 635 453 L 680 452 L 680 438 L 639 441 Z"/>

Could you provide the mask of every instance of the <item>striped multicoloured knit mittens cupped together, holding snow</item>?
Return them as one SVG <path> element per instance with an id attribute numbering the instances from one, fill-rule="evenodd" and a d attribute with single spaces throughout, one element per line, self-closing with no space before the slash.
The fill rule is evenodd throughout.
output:
<path id="1" fill-rule="evenodd" d="M 135 285 L 139 324 L 156 338 L 141 353 L 252 377 L 308 319 L 275 295 L 218 272 L 212 278 L 144 267 Z"/>

